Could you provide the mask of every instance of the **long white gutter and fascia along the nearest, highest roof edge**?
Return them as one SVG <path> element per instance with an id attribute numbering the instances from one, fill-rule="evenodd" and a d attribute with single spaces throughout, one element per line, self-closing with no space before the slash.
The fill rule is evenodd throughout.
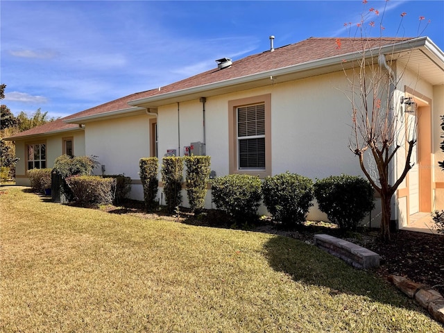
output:
<path id="1" fill-rule="evenodd" d="M 416 49 L 418 47 L 424 46 L 427 37 L 419 37 L 412 40 L 407 40 L 404 42 L 398 42 L 395 44 L 390 44 L 382 46 L 381 48 L 375 47 L 373 49 L 368 49 L 365 53 L 366 58 L 372 58 L 377 56 L 379 53 L 393 54 L 401 51 L 408 51 L 410 49 Z M 377 51 L 377 53 L 375 53 Z M 348 62 L 354 60 L 361 55 L 357 52 L 344 53 L 340 56 L 333 56 L 329 58 L 323 58 L 320 60 L 312 60 L 309 62 L 303 62 L 297 65 L 291 65 L 288 67 L 282 67 L 279 69 L 272 69 L 270 71 L 262 71 L 260 73 L 251 74 L 248 76 L 241 76 L 239 78 L 231 78 L 229 80 L 218 81 L 215 83 L 209 83 L 207 85 L 198 85 L 196 87 L 176 90 L 174 92 L 167 92 L 166 94 L 158 94 L 155 96 L 146 97 L 144 99 L 135 99 L 134 101 L 129 101 L 129 105 L 137 106 L 145 103 L 153 103 L 162 101 L 164 99 L 173 99 L 180 96 L 185 96 L 187 94 L 196 94 L 200 92 L 206 92 L 208 90 L 219 89 L 223 87 L 228 87 L 230 85 L 239 85 L 242 83 L 250 83 L 255 80 L 262 80 L 264 78 L 269 78 L 270 76 L 281 76 L 285 74 L 293 74 L 299 71 L 307 71 L 309 69 L 317 69 L 322 67 L 328 67 L 332 65 L 340 65 L 342 62 Z"/>

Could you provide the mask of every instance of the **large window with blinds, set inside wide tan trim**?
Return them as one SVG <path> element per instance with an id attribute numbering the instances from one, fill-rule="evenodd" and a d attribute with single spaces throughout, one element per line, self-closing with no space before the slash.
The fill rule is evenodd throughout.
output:
<path id="1" fill-rule="evenodd" d="M 265 169 L 265 105 L 237 108 L 239 169 Z"/>

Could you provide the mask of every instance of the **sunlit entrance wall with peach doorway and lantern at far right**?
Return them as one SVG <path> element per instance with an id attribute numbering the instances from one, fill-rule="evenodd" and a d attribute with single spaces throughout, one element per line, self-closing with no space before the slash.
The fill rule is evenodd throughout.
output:
<path id="1" fill-rule="evenodd" d="M 395 95 L 395 110 L 399 113 L 399 117 L 405 123 L 407 121 L 416 120 L 418 127 L 416 128 L 416 137 L 418 142 L 414 148 L 413 168 L 407 174 L 407 177 L 398 187 L 397 198 L 394 202 L 396 212 L 394 219 L 398 220 L 399 227 L 405 226 L 409 223 L 409 216 L 416 211 L 429 212 L 429 206 L 427 200 L 431 200 L 432 206 L 440 205 L 440 190 L 435 189 L 438 164 L 435 161 L 439 148 L 439 135 L 438 131 L 438 118 L 439 114 L 442 114 L 444 105 L 444 96 L 439 87 L 434 87 L 430 83 L 421 78 L 418 78 L 418 74 L 412 71 L 404 71 L 401 64 L 398 65 L 398 72 L 403 73 L 402 80 L 398 84 L 398 90 Z M 418 103 L 418 110 L 416 114 L 406 114 L 404 112 L 404 106 L 400 105 L 401 96 L 413 96 L 416 103 Z M 404 144 L 403 140 L 409 130 L 401 128 L 399 142 Z M 398 153 L 398 161 L 396 165 L 395 176 L 398 178 L 404 168 L 404 160 L 407 151 L 405 148 L 401 148 Z M 431 192 L 431 193 L 429 193 Z M 442 194 L 441 194 L 442 195 Z M 426 198 L 428 197 L 428 198 Z M 416 203 L 418 201 L 418 203 Z M 413 202 L 413 204 L 412 204 Z M 423 205 L 423 203 L 426 205 Z M 415 206 L 416 204 L 417 206 Z M 413 210 L 413 207 L 414 210 Z"/>

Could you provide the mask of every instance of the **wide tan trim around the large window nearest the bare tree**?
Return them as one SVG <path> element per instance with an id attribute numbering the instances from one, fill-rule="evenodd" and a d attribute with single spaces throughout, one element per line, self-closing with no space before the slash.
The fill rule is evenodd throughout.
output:
<path id="1" fill-rule="evenodd" d="M 265 106 L 265 169 L 239 169 L 237 142 L 237 108 L 263 103 Z M 229 171 L 265 178 L 271 176 L 271 94 L 228 101 L 228 154 Z"/>

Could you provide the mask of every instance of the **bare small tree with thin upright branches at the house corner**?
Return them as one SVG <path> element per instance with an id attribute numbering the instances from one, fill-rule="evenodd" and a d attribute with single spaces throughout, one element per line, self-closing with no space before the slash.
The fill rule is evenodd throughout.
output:
<path id="1" fill-rule="evenodd" d="M 379 37 L 368 37 L 366 28 L 376 26 L 370 15 L 379 17 Z M 406 13 L 401 14 L 401 19 Z M 348 99 L 352 106 L 352 135 L 350 149 L 359 158 L 359 165 L 370 184 L 381 197 L 382 218 L 380 234 L 390 241 L 391 200 L 409 170 L 416 145 L 416 117 L 408 117 L 400 107 L 397 89 L 407 65 L 396 65 L 395 44 L 411 38 L 382 36 L 381 14 L 370 8 L 357 24 L 357 34 L 346 41 L 359 56 L 344 65 L 348 80 Z M 421 20 L 421 17 L 420 17 Z M 365 25 L 365 27 L 364 27 Z M 336 42 L 341 47 L 341 42 Z M 404 60 L 405 63 L 405 60 Z M 407 60 L 408 63 L 408 60 Z M 348 68 L 348 69 L 346 69 Z M 395 175 L 396 164 L 402 164 Z M 370 161 L 370 162 L 369 162 Z M 398 169 L 399 170 L 399 169 Z"/>

